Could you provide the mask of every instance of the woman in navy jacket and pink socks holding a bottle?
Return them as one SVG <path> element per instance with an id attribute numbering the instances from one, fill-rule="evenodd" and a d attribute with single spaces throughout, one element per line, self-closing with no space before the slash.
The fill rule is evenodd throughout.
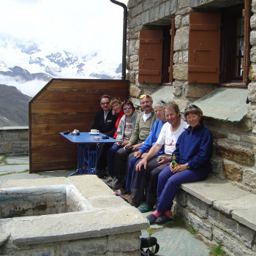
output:
<path id="1" fill-rule="evenodd" d="M 147 219 L 150 224 L 167 222 L 172 215 L 173 199 L 181 184 L 202 181 L 206 179 L 211 170 L 211 132 L 203 126 L 203 112 L 196 105 L 185 108 L 185 118 L 189 127 L 179 136 L 176 143 L 178 166 L 166 165 L 159 174 L 157 184 L 157 210 L 149 214 Z M 173 157 L 172 157 L 173 158 Z"/>

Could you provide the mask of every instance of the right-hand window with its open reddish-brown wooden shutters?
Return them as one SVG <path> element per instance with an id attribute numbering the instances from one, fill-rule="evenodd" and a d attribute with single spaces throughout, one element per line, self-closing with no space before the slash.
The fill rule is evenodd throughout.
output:
<path id="1" fill-rule="evenodd" d="M 249 82 L 251 0 L 222 12 L 189 13 L 190 83 L 245 86 Z"/>

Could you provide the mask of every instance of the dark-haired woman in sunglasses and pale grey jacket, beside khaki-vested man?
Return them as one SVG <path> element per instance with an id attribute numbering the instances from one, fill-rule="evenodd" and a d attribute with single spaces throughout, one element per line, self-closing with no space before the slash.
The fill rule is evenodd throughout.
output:
<path id="1" fill-rule="evenodd" d="M 124 148 L 129 142 L 129 138 L 132 135 L 132 131 L 135 127 L 135 121 L 138 113 L 135 112 L 135 107 L 129 99 L 125 99 L 124 103 L 121 105 L 121 110 L 124 113 L 122 116 L 118 128 L 115 143 L 107 153 L 107 166 L 108 166 L 108 179 L 105 181 L 110 187 L 116 183 L 116 170 L 114 167 L 116 151 L 120 148 Z"/>

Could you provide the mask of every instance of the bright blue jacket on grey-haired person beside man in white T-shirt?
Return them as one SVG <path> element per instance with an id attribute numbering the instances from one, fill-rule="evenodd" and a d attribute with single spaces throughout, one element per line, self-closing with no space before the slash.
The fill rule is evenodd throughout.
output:
<path id="1" fill-rule="evenodd" d="M 143 146 L 139 148 L 139 151 L 141 153 L 145 153 L 146 151 L 149 151 L 151 146 L 153 146 L 157 142 L 157 138 L 159 136 L 159 133 L 161 132 L 162 126 L 166 123 L 166 121 L 160 121 L 157 119 L 155 121 L 151 132 L 149 133 L 148 137 L 143 143 Z M 158 156 L 159 154 L 165 154 L 165 145 L 162 146 L 162 148 L 159 150 L 159 152 L 156 154 Z"/>

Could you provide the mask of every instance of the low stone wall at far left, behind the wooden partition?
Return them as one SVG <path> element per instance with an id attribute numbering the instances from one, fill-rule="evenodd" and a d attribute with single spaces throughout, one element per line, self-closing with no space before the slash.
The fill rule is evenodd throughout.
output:
<path id="1" fill-rule="evenodd" d="M 29 127 L 0 127 L 0 154 L 28 155 Z"/>

